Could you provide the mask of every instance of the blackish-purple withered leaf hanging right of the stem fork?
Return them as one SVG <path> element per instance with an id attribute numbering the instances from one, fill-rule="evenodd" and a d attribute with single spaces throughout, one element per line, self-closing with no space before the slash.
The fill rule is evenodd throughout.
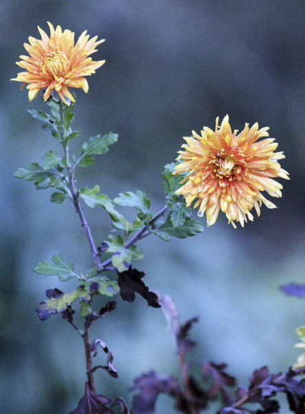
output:
<path id="1" fill-rule="evenodd" d="M 158 299 L 158 295 L 154 292 L 150 292 L 149 288 L 145 286 L 141 280 L 145 276 L 144 272 L 132 269 L 129 267 L 121 273 L 118 273 L 118 286 L 120 288 L 120 296 L 127 302 L 134 302 L 136 297 L 135 293 L 138 293 L 144 299 L 147 304 L 153 308 L 160 308 L 161 304 Z"/>

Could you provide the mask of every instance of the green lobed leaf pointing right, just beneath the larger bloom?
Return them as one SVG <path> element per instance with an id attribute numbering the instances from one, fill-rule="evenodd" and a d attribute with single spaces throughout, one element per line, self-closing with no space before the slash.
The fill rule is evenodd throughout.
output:
<path id="1" fill-rule="evenodd" d="M 203 227 L 198 221 L 192 219 L 185 219 L 185 223 L 180 227 L 173 227 L 171 219 L 167 220 L 158 228 L 149 230 L 161 239 L 169 241 L 171 237 L 178 237 L 178 239 L 185 239 L 185 237 L 194 236 L 203 231 Z"/>

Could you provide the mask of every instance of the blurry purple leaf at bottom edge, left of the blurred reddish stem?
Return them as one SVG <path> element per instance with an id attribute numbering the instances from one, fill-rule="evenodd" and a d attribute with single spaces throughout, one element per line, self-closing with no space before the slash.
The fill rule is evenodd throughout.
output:
<path id="1" fill-rule="evenodd" d="M 155 405 L 160 393 L 178 397 L 182 395 L 178 382 L 173 377 L 160 377 L 154 371 L 143 374 L 134 380 L 132 391 L 140 392 L 132 400 L 133 414 L 154 414 Z"/>

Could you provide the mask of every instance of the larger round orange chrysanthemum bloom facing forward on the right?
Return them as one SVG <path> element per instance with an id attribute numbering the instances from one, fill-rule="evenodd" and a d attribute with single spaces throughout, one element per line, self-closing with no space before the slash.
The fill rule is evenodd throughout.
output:
<path id="1" fill-rule="evenodd" d="M 236 228 L 234 221 L 244 226 L 247 218 L 253 221 L 250 213 L 254 207 L 260 215 L 260 206 L 269 208 L 275 204 L 267 200 L 261 191 L 273 197 L 281 197 L 282 185 L 273 178 L 288 178 L 288 172 L 281 168 L 278 159 L 285 158 L 283 152 L 274 152 L 275 139 L 268 137 L 268 127 L 258 129 L 255 123 L 251 128 L 245 124 L 240 134 L 232 132 L 229 116 L 225 116 L 221 125 L 216 118 L 215 131 L 204 126 L 201 136 L 192 132 L 185 137 L 185 150 L 178 151 L 173 174 L 187 172 L 184 183 L 176 194 L 184 195 L 187 206 L 197 199 L 194 208 L 199 207 L 198 216 L 207 215 L 207 226 L 218 218 L 220 210 L 226 213 L 229 223 Z"/>

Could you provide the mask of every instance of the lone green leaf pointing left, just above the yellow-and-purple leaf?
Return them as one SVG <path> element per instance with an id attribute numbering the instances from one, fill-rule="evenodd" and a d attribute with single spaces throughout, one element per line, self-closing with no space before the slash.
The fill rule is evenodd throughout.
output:
<path id="1" fill-rule="evenodd" d="M 54 255 L 52 262 L 48 260 L 38 262 L 34 267 L 34 272 L 39 273 L 39 275 L 57 275 L 61 282 L 65 282 L 73 277 L 80 279 L 74 272 L 74 263 L 65 259 L 62 255 Z"/>

